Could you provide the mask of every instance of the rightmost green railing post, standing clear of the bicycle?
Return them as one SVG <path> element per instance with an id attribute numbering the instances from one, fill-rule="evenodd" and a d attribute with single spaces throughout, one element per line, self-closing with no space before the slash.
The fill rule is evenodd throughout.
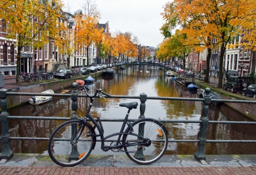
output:
<path id="1" fill-rule="evenodd" d="M 204 154 L 204 146 L 206 144 L 206 129 L 208 126 L 208 112 L 209 112 L 209 103 L 210 103 L 210 89 L 205 89 L 205 97 L 204 97 L 204 106 L 203 106 L 203 117 L 202 117 L 202 124 L 200 127 L 200 135 L 199 135 L 199 143 L 198 143 L 198 149 L 197 152 L 194 154 L 194 157 L 197 160 L 206 160 L 205 154 Z"/>

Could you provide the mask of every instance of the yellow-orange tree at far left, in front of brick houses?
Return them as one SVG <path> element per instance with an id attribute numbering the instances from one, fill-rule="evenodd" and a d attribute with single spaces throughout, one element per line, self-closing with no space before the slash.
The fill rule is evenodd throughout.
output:
<path id="1" fill-rule="evenodd" d="M 49 42 L 49 37 L 57 34 L 56 19 L 63 4 L 59 0 L 42 3 L 40 0 L 15 1 L 1 0 L 0 16 L 7 38 L 16 40 L 17 67 L 16 83 L 19 80 L 20 51 L 24 46 L 42 48 Z"/>

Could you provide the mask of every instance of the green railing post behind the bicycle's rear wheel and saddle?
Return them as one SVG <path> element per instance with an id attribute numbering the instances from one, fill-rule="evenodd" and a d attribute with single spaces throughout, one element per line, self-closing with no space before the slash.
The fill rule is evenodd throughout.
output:
<path id="1" fill-rule="evenodd" d="M 146 94 L 145 93 L 142 93 L 142 94 L 140 94 L 140 116 L 139 116 L 139 119 L 143 119 L 143 118 L 145 118 L 145 116 L 144 116 L 144 113 L 145 113 L 145 110 L 146 110 L 146 104 L 145 104 L 145 102 L 146 102 Z M 139 124 L 139 133 L 138 133 L 138 135 L 139 136 L 144 136 L 144 123 L 140 123 Z M 140 138 L 138 138 L 138 140 L 140 140 Z M 137 152 L 135 153 L 135 155 L 134 155 L 134 157 L 137 159 L 137 160 L 145 160 L 145 158 L 144 158 L 144 154 L 143 154 L 143 151 L 142 151 L 142 147 L 140 147 L 140 148 L 138 148 L 137 149 L 137 152 L 138 152 L 138 154 L 137 154 Z"/>

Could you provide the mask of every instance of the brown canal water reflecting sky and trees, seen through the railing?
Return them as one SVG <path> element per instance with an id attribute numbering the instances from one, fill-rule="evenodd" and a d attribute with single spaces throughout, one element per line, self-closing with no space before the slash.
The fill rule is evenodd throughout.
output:
<path id="1" fill-rule="evenodd" d="M 88 84 L 90 92 L 102 89 L 111 95 L 139 96 L 145 93 L 148 97 L 186 97 L 198 98 L 193 92 L 183 90 L 172 77 L 164 76 L 164 71 L 147 65 L 135 65 L 125 70 L 118 70 L 114 77 L 96 77 L 95 82 Z M 71 92 L 71 91 L 70 91 Z M 81 92 L 83 93 L 83 92 Z M 119 103 L 134 102 L 139 99 L 95 98 L 91 115 L 101 119 L 123 119 L 126 108 Z M 78 98 L 78 115 L 84 116 L 90 103 L 88 98 Z M 200 120 L 202 104 L 195 101 L 147 100 L 145 102 L 145 117 L 171 120 Z M 70 117 L 71 98 L 53 97 L 52 101 L 39 106 L 30 104 L 9 111 L 11 116 L 45 116 Z M 138 119 L 139 106 L 132 110 L 130 119 Z M 226 105 L 209 106 L 209 120 L 215 121 L 248 121 L 240 113 Z M 59 120 L 9 120 L 11 137 L 49 138 L 53 130 L 63 121 Z M 169 140 L 196 140 L 199 136 L 198 123 L 164 123 Z M 119 132 L 121 122 L 103 122 L 104 136 Z M 207 140 L 255 140 L 255 126 L 238 124 L 209 124 Z M 110 143 L 106 143 L 110 144 Z M 2 145 L 1 148 L 2 150 Z M 16 153 L 47 154 L 47 141 L 12 140 L 11 149 Z M 168 155 L 193 155 L 197 151 L 197 143 L 168 143 Z M 100 142 L 97 142 L 92 154 L 116 154 L 103 152 Z M 123 153 L 122 153 L 123 154 Z M 256 154 L 256 144 L 253 143 L 206 143 L 206 155 Z"/>

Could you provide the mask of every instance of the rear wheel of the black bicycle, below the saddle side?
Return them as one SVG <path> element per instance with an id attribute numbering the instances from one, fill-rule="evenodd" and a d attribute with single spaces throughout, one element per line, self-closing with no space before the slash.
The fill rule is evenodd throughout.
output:
<path id="1" fill-rule="evenodd" d="M 162 123 L 154 119 L 142 119 L 132 123 L 134 132 L 127 128 L 125 133 L 139 134 L 144 124 L 144 138 L 150 139 L 150 145 L 127 146 L 124 147 L 125 154 L 134 162 L 142 165 L 151 164 L 158 161 L 163 155 L 168 145 L 168 136 Z M 139 127 L 141 126 L 141 127 Z M 122 143 L 138 141 L 139 138 L 133 135 L 124 135 Z M 144 150 L 143 150 L 144 149 Z"/>

